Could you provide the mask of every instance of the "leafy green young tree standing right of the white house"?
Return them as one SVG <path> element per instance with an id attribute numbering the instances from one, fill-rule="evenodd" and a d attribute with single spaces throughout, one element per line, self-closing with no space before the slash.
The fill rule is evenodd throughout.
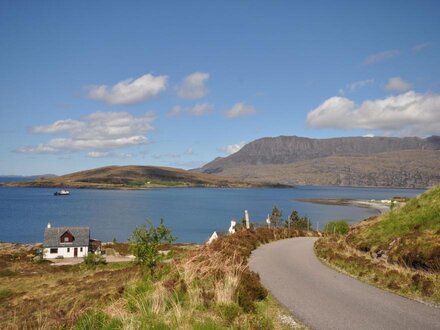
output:
<path id="1" fill-rule="evenodd" d="M 171 235 L 171 229 L 164 225 L 163 219 L 160 220 L 157 227 L 147 220 L 147 224 L 136 227 L 131 234 L 129 239 L 130 250 L 136 260 L 153 274 L 157 264 L 164 258 L 159 253 L 159 245 L 172 243 L 175 240 L 176 237 Z"/>

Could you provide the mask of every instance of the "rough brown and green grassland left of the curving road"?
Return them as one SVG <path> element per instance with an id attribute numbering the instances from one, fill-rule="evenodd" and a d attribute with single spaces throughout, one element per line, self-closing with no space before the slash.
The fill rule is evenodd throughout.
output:
<path id="1" fill-rule="evenodd" d="M 261 244 L 305 234 L 260 228 L 177 246 L 154 274 L 131 262 L 54 267 L 30 259 L 35 247 L 3 249 L 0 328 L 301 328 L 249 271 L 247 258 Z M 124 254 L 127 245 L 108 249 Z"/>

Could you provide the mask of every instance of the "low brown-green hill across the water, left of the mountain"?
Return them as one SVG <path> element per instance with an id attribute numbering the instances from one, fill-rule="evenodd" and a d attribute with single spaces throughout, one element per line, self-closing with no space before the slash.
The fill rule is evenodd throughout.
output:
<path id="1" fill-rule="evenodd" d="M 42 178 L 31 182 L 14 182 L 7 185 L 98 189 L 270 186 L 266 183 L 247 183 L 238 179 L 155 166 L 107 166 L 55 178 Z"/>

